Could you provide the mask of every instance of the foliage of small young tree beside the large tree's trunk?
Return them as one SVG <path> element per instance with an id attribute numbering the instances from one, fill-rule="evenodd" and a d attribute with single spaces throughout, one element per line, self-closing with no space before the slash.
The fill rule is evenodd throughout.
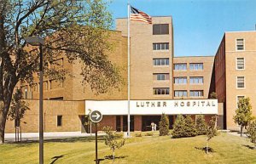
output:
<path id="1" fill-rule="evenodd" d="M 20 120 L 24 117 L 26 110 L 30 110 L 27 107 L 27 104 L 22 99 L 22 92 L 20 89 L 16 90 L 16 93 L 13 95 L 11 107 L 8 113 L 10 120 L 16 120 L 20 122 Z"/>

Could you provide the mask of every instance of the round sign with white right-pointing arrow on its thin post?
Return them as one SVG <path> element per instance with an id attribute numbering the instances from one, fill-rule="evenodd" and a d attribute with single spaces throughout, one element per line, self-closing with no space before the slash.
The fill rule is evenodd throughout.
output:
<path id="1" fill-rule="evenodd" d="M 95 152 L 96 152 L 96 164 L 98 164 L 98 132 L 97 132 L 97 123 L 102 121 L 102 113 L 98 110 L 94 110 L 92 112 L 90 112 L 90 121 L 91 122 L 95 122 L 96 123 L 96 127 L 95 127 Z"/>

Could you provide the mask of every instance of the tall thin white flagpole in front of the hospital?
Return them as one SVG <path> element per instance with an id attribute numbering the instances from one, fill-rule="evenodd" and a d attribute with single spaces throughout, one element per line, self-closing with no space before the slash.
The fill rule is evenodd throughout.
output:
<path id="1" fill-rule="evenodd" d="M 131 14 L 131 8 L 130 8 L 130 3 L 128 1 L 128 129 L 127 129 L 127 137 L 129 138 L 131 136 L 130 134 L 130 14 Z"/>

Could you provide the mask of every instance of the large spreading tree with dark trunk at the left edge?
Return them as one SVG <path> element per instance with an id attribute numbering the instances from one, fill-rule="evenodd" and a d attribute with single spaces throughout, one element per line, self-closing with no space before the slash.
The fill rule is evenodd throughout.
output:
<path id="1" fill-rule="evenodd" d="M 45 40 L 44 76 L 64 81 L 65 69 L 50 68 L 55 59 L 66 56 L 69 62 L 83 64 L 82 82 L 95 93 L 106 93 L 109 86 L 118 88 L 119 68 L 106 55 L 111 14 L 103 0 L 1 0 L 0 3 L 0 144 L 14 88 L 18 82 L 32 85 L 38 78 L 38 47 L 27 47 L 26 37 Z"/>

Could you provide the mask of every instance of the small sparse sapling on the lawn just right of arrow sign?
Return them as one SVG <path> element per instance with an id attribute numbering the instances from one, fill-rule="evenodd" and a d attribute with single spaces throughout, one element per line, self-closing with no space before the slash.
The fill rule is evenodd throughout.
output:
<path id="1" fill-rule="evenodd" d="M 102 130 L 107 135 L 104 136 L 105 144 L 109 146 L 110 150 L 113 151 L 114 161 L 114 150 L 121 148 L 125 145 L 125 139 L 117 139 L 117 135 L 112 131 L 112 127 L 103 127 Z"/>

